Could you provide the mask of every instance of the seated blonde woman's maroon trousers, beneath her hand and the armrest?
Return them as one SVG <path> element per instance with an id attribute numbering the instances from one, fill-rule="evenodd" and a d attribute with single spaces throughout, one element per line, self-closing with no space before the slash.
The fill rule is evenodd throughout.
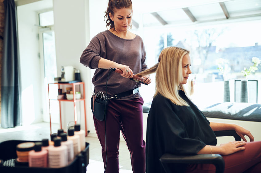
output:
<path id="1" fill-rule="evenodd" d="M 245 150 L 222 156 L 225 161 L 224 173 L 261 172 L 261 141 L 247 142 Z M 186 172 L 215 173 L 213 164 L 198 164 L 189 167 Z"/>

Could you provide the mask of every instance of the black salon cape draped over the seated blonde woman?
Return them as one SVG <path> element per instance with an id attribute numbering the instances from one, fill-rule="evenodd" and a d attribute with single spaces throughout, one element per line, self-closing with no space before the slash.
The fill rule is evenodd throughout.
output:
<path id="1" fill-rule="evenodd" d="M 216 145 L 216 136 L 203 113 L 179 90 L 189 103 L 177 106 L 162 95 L 154 97 L 147 119 L 146 173 L 165 173 L 159 158 L 166 152 L 195 155 L 205 145 Z M 182 172 L 186 164 L 172 164 L 173 172 Z"/>

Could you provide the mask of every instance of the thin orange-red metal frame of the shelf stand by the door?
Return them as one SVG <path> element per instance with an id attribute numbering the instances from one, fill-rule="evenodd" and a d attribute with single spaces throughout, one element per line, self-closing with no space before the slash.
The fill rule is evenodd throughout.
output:
<path id="1" fill-rule="evenodd" d="M 65 87 L 71 87 L 73 92 L 73 99 L 50 99 L 50 85 L 58 85 L 58 89 L 62 89 Z M 76 88 L 78 91 L 82 88 L 81 98 L 76 99 Z M 65 91 L 66 92 L 66 91 Z M 85 122 L 85 136 L 87 136 L 87 124 L 86 124 L 86 108 L 85 108 L 85 86 L 84 82 L 75 82 L 75 83 L 50 83 L 48 84 L 48 96 L 49 96 L 49 111 L 50 111 L 50 132 L 52 134 L 52 127 L 51 127 L 51 110 L 50 110 L 50 101 L 56 100 L 59 101 L 59 112 L 60 112 L 60 126 L 62 129 L 62 115 L 61 115 L 61 102 L 73 102 L 74 103 L 74 123 L 77 123 L 77 110 L 76 110 L 76 102 L 83 101 L 84 107 L 84 122 Z"/>

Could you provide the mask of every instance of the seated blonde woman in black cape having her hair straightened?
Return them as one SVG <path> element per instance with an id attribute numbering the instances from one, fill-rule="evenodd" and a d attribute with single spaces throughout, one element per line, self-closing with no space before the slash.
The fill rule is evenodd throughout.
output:
<path id="1" fill-rule="evenodd" d="M 183 85 L 187 83 L 191 60 L 189 51 L 167 47 L 159 55 L 159 63 L 137 75 L 156 72 L 156 91 L 147 119 L 146 172 L 164 173 L 159 158 L 175 155 L 220 154 L 225 171 L 260 172 L 261 141 L 236 124 L 209 122 L 188 99 Z M 243 141 L 216 146 L 213 131 L 235 130 Z M 247 142 L 245 136 L 251 142 Z M 173 172 L 215 173 L 213 164 L 173 164 Z"/>

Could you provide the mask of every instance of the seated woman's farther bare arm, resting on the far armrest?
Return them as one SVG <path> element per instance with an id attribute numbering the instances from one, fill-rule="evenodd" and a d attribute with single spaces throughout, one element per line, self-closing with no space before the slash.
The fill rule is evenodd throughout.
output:
<path id="1" fill-rule="evenodd" d="M 243 139 L 243 141 L 247 141 L 244 137 L 247 135 L 250 141 L 254 141 L 253 135 L 250 133 L 249 130 L 244 129 L 243 127 L 237 124 L 228 124 L 228 123 L 219 123 L 219 122 L 210 122 L 210 127 L 213 131 L 219 130 L 235 130 L 236 133 Z"/>

